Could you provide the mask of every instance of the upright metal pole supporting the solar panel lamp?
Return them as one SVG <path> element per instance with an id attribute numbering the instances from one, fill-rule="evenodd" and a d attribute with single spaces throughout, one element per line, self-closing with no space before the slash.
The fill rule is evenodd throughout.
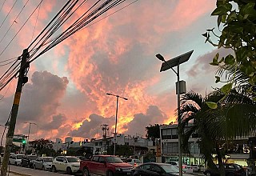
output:
<path id="1" fill-rule="evenodd" d="M 178 115 L 178 170 L 179 170 L 179 176 L 182 176 L 182 133 L 180 131 L 180 122 L 181 122 L 181 118 L 180 118 L 180 87 L 179 87 L 179 64 L 177 66 L 177 78 L 178 78 L 178 82 L 177 82 L 177 103 L 178 103 L 178 111 L 177 111 L 177 115 Z"/>

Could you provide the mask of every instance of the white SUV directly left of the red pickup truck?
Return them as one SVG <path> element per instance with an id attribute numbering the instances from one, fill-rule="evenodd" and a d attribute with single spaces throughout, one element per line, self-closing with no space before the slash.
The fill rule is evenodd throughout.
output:
<path id="1" fill-rule="evenodd" d="M 52 163 L 52 171 L 66 171 L 67 174 L 77 173 L 80 167 L 80 159 L 74 156 L 58 156 Z"/>

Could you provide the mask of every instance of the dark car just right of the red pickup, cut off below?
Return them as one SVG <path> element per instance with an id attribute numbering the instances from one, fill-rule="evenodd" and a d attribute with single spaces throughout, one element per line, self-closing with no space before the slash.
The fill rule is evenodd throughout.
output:
<path id="1" fill-rule="evenodd" d="M 157 162 L 148 162 L 137 166 L 133 170 L 134 176 L 169 176 L 169 175 L 178 175 L 177 170 L 174 170 L 174 166 L 167 163 L 157 163 Z"/>

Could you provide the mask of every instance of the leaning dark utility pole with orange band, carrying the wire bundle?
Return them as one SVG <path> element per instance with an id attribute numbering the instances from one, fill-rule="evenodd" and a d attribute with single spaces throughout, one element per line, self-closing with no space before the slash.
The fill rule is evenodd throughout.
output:
<path id="1" fill-rule="evenodd" d="M 27 82 L 27 78 L 25 77 L 25 74 L 26 74 L 26 68 L 28 67 L 26 62 L 26 59 L 28 57 L 29 57 L 28 49 L 23 50 L 21 68 L 19 70 L 19 75 L 18 75 L 18 84 L 16 87 L 15 95 L 14 95 L 14 103 L 11 109 L 10 126 L 6 135 L 6 149 L 5 149 L 5 153 L 2 161 L 2 168 L 1 168 L 2 176 L 6 176 L 9 157 L 10 157 L 10 147 L 13 144 L 14 130 L 15 130 L 16 119 L 18 115 L 18 106 L 19 106 L 19 102 L 22 94 L 22 86 Z"/>

